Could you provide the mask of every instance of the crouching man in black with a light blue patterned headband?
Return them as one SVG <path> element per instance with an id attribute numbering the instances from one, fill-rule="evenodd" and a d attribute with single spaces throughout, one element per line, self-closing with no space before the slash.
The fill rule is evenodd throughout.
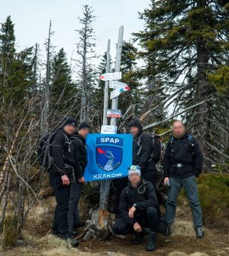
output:
<path id="1" fill-rule="evenodd" d="M 134 244 L 140 244 L 150 228 L 147 251 L 156 250 L 156 231 L 158 226 L 158 202 L 152 183 L 140 178 L 139 166 L 131 166 L 128 172 L 129 183 L 121 192 L 121 218 L 112 228 L 116 235 L 135 234 Z"/>

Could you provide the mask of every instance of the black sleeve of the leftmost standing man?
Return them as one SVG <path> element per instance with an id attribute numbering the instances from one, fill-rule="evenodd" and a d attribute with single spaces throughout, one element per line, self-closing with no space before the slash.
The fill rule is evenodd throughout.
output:
<path id="1" fill-rule="evenodd" d="M 53 166 L 60 175 L 66 174 L 63 162 L 63 147 L 65 145 L 66 138 L 62 133 L 58 133 L 53 136 L 51 143 L 51 155 L 53 157 Z"/>

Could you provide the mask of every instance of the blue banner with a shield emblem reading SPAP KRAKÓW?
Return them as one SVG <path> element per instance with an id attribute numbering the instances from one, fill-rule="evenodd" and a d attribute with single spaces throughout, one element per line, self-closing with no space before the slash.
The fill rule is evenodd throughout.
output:
<path id="1" fill-rule="evenodd" d="M 132 164 L 131 134 L 89 134 L 86 145 L 88 165 L 85 181 L 127 176 L 127 169 Z"/>

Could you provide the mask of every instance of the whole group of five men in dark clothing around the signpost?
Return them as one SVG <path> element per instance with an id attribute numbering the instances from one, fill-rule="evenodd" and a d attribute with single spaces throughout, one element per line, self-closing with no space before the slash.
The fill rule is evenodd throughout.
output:
<path id="1" fill-rule="evenodd" d="M 156 196 L 156 165 L 152 158 L 152 136 L 144 133 L 138 120 L 129 123 L 133 135 L 133 166 L 128 169 L 128 179 L 118 194 L 119 214 L 112 227 L 115 235 L 134 234 L 134 244 L 140 244 L 148 231 L 147 251 L 156 249 L 156 233 L 161 218 L 160 205 Z M 87 123 L 79 125 L 68 118 L 63 128 L 51 139 L 50 185 L 56 196 L 56 211 L 53 218 L 53 234 L 73 239 L 76 228 L 84 225 L 79 221 L 78 202 L 85 182 L 83 173 L 87 165 L 85 138 L 90 133 Z M 163 184 L 168 187 L 165 222 L 169 228 L 176 215 L 176 200 L 183 187 L 192 209 L 197 238 L 203 238 L 202 209 L 198 200 L 195 179 L 202 172 L 203 156 L 196 139 L 186 133 L 184 123 L 176 120 L 172 136 L 166 145 L 163 159 Z M 120 179 L 121 180 L 121 179 Z M 114 180 L 115 181 L 115 180 Z"/>

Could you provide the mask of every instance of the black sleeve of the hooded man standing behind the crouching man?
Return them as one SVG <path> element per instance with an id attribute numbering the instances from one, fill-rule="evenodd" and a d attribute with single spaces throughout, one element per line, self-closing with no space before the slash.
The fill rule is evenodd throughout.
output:
<path id="1" fill-rule="evenodd" d="M 152 138 L 147 133 L 142 133 L 140 136 L 140 170 L 144 171 L 147 168 L 147 162 L 150 159 L 152 153 Z"/>

